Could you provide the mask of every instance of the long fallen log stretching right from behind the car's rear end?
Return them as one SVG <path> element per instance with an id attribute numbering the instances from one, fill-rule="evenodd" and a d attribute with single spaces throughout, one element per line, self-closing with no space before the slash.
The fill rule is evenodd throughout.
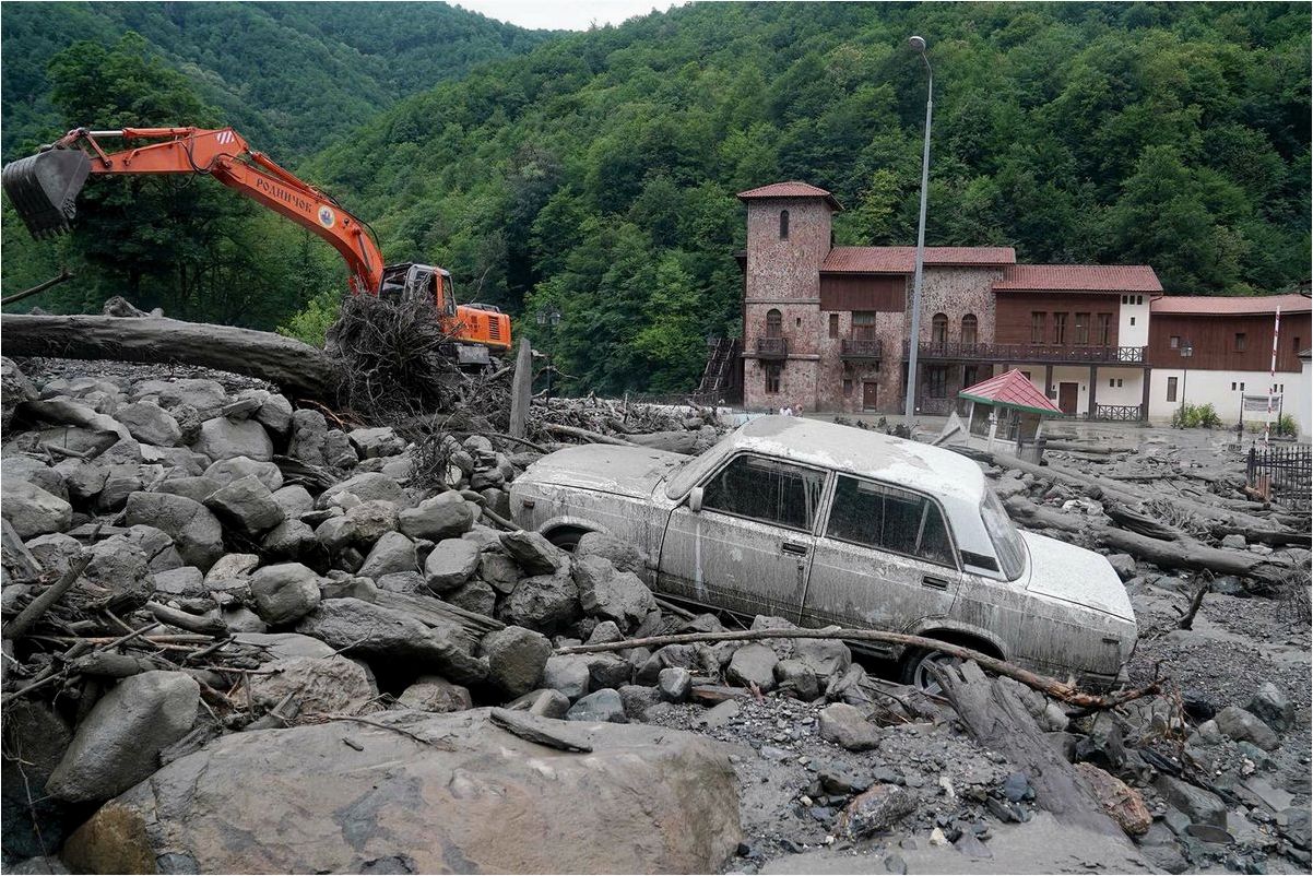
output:
<path id="1" fill-rule="evenodd" d="M 1082 532 L 1108 548 L 1123 550 L 1137 559 L 1152 562 L 1163 569 L 1188 569 L 1211 571 L 1215 575 L 1241 575 L 1270 584 L 1284 583 L 1288 569 L 1274 566 L 1258 554 L 1224 548 L 1209 548 L 1194 538 L 1180 537 L 1176 541 L 1162 541 L 1128 532 L 1117 527 L 1106 527 L 1088 517 L 1075 517 L 1054 508 L 1037 506 L 1029 499 L 1011 496 L 1003 503 L 1008 515 L 1028 527 Z"/>

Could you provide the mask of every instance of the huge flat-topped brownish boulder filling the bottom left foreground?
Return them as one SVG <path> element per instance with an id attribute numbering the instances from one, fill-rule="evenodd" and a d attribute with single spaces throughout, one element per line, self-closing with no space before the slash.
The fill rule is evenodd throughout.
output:
<path id="1" fill-rule="evenodd" d="M 404 734 L 239 733 L 102 806 L 64 856 L 77 872 L 646 873 L 717 872 L 734 854 L 738 780 L 716 743 L 516 717 L 592 751 L 528 742 L 487 709 L 372 716 Z"/>

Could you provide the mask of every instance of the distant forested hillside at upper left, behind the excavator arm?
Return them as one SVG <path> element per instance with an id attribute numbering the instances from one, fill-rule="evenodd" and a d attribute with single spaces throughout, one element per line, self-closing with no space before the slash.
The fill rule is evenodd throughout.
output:
<path id="1" fill-rule="evenodd" d="M 5 160 L 64 120 L 47 64 L 81 39 L 142 34 L 259 147 L 291 160 L 399 99 L 551 37 L 440 3 L 7 3 Z"/>

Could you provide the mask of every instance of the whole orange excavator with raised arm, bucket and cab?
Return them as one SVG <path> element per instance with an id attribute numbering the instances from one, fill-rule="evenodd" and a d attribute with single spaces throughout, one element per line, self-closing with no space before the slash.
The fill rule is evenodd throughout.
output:
<path id="1" fill-rule="evenodd" d="M 98 139 L 156 141 L 105 152 Z M 231 127 L 125 127 L 93 131 L 77 127 L 35 155 L 0 172 L 4 190 L 35 238 L 67 231 L 77 193 L 91 175 L 204 173 L 281 213 L 327 240 L 349 271 L 352 294 L 432 301 L 437 320 L 454 340 L 462 366 L 488 362 L 490 351 L 511 348 L 511 318 L 491 305 L 456 303 L 452 274 L 432 265 L 385 265 L 364 222 L 331 196 L 251 148 Z"/>

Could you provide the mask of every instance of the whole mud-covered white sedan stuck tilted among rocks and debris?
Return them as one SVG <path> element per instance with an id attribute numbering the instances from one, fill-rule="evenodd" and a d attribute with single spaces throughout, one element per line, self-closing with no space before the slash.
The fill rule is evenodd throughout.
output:
<path id="1" fill-rule="evenodd" d="M 567 448 L 511 508 L 566 549 L 603 532 L 645 550 L 658 594 L 709 609 L 937 638 L 1095 690 L 1136 644 L 1104 557 L 1019 532 L 969 458 L 878 432 L 763 416 L 692 458 Z M 922 686 L 943 659 L 861 647 Z"/>

